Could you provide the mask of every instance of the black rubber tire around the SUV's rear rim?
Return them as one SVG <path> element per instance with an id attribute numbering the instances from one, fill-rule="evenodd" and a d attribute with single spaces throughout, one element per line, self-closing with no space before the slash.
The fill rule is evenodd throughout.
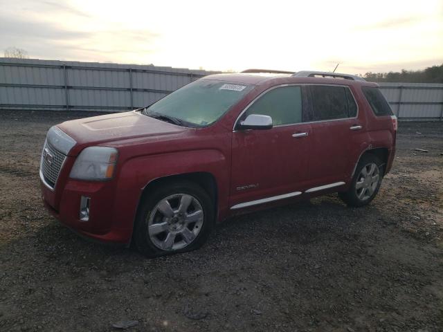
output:
<path id="1" fill-rule="evenodd" d="M 368 194 L 368 192 L 366 192 L 366 194 L 362 195 L 361 192 L 363 188 L 359 188 L 357 190 L 356 185 L 357 182 L 361 183 L 362 179 L 361 172 L 363 171 L 363 168 L 367 167 L 366 169 L 369 169 L 368 165 L 371 165 L 372 163 L 377 165 L 379 180 L 377 182 L 377 185 L 374 185 L 374 189 L 372 189 L 372 187 L 370 188 L 370 190 L 373 190 L 371 194 Z M 365 154 L 361 157 L 359 163 L 357 164 L 354 177 L 352 178 L 350 189 L 347 192 L 339 192 L 338 196 L 343 202 L 345 202 L 349 206 L 361 207 L 364 205 L 368 205 L 379 192 L 382 179 L 383 179 L 383 164 L 381 163 L 381 160 L 377 156 L 374 156 L 372 154 Z"/>

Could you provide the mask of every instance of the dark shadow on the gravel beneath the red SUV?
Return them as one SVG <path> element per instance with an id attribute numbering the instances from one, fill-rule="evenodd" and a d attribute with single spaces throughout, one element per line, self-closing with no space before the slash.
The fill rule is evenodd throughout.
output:
<path id="1" fill-rule="evenodd" d="M 213 250 L 226 246 L 233 250 L 257 250 L 256 243 L 266 241 L 306 244 L 330 233 L 343 237 L 350 225 L 358 223 L 368 208 L 347 208 L 336 195 L 331 194 L 309 201 L 233 216 L 215 226 L 208 243 L 197 250 L 199 253 L 195 252 L 195 255 L 199 255 L 199 259 L 205 259 L 204 255 L 208 253 L 211 259 L 214 259 Z M 382 215 L 381 212 L 376 214 Z M 134 245 L 126 248 L 92 241 L 79 236 L 51 216 L 47 216 L 47 219 L 51 220 L 50 223 L 38 228 L 27 237 L 15 240 L 17 243 L 9 243 L 7 246 L 34 243 L 36 252 L 44 257 L 71 262 L 75 259 L 78 259 L 78 262 L 85 261 L 85 257 L 88 257 L 89 263 L 106 259 L 107 262 L 116 260 L 125 261 L 125 265 L 129 263 L 138 265 L 145 260 Z M 341 235 L 343 231 L 345 233 Z M 172 255 L 168 260 L 172 262 L 180 260 L 183 255 L 192 254 Z"/>

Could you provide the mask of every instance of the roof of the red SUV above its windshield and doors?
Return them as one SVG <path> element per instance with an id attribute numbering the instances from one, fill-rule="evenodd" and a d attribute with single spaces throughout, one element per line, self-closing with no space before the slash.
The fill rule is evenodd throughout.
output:
<path id="1" fill-rule="evenodd" d="M 333 77 L 298 77 L 291 74 L 275 74 L 275 73 L 228 73 L 215 74 L 203 77 L 206 80 L 221 80 L 226 82 L 242 83 L 242 84 L 337 84 L 337 85 L 364 85 L 378 86 L 376 83 L 366 82 L 365 80 L 346 80 L 344 78 Z"/>

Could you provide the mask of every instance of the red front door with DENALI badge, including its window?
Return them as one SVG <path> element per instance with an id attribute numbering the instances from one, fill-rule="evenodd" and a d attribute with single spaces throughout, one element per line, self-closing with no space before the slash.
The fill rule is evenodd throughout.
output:
<path id="1" fill-rule="evenodd" d="M 311 142 L 311 125 L 302 123 L 303 91 L 298 85 L 269 89 L 237 120 L 250 114 L 271 116 L 273 128 L 233 131 L 231 206 L 242 208 L 257 205 L 257 200 L 266 203 L 297 196 L 302 189 Z M 282 195 L 288 196 L 276 198 Z"/>

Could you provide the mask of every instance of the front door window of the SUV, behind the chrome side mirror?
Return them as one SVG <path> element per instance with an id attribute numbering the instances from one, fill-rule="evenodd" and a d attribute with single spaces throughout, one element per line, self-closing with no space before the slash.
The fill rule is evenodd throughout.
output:
<path id="1" fill-rule="evenodd" d="M 302 122 L 302 91 L 300 86 L 282 86 L 257 99 L 245 112 L 270 116 L 274 126 Z"/>

